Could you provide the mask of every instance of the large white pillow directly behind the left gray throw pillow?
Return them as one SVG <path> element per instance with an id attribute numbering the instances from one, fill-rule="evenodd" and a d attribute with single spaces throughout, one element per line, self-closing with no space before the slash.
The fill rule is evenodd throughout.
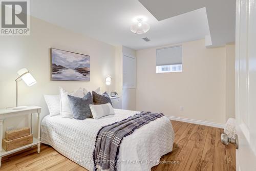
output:
<path id="1" fill-rule="evenodd" d="M 73 118 L 73 113 L 70 107 L 68 94 L 82 98 L 84 96 L 83 89 L 79 88 L 73 93 L 68 93 L 66 90 L 59 87 L 59 100 L 60 100 L 60 115 L 63 118 Z"/>

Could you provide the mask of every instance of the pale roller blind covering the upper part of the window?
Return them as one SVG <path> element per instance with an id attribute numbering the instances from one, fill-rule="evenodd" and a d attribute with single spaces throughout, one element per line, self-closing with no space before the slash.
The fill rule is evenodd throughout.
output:
<path id="1" fill-rule="evenodd" d="M 157 49 L 157 66 L 177 65 L 182 63 L 182 46 Z"/>

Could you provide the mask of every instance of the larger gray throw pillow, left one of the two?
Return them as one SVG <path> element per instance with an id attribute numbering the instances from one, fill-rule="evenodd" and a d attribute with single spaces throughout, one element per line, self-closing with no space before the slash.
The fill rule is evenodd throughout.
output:
<path id="1" fill-rule="evenodd" d="M 83 120 L 93 117 L 89 106 L 89 104 L 93 104 L 91 92 L 87 93 L 83 98 L 71 96 L 68 94 L 68 98 L 74 119 Z"/>

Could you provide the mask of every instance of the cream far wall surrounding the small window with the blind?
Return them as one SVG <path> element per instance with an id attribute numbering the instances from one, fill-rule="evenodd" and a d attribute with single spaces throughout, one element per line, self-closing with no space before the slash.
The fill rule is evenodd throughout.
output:
<path id="1" fill-rule="evenodd" d="M 183 72 L 178 73 L 156 74 L 157 48 L 136 51 L 136 110 L 225 123 L 226 47 L 207 49 L 204 43 L 182 44 Z"/>

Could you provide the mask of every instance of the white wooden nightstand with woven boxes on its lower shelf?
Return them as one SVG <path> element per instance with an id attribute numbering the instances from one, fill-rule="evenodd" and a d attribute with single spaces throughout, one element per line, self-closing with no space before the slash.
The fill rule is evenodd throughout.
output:
<path id="1" fill-rule="evenodd" d="M 20 109 L 20 110 L 13 110 L 13 109 L 0 109 L 0 167 L 1 167 L 1 160 L 2 157 L 10 155 L 12 153 L 21 151 L 22 149 L 34 146 L 37 144 L 37 153 L 40 153 L 40 112 L 41 107 L 39 106 L 27 106 L 26 109 Z M 33 143 L 12 149 L 11 151 L 6 152 L 2 148 L 2 139 L 3 139 L 3 123 L 6 118 L 15 117 L 15 116 L 22 116 L 22 115 L 28 115 L 30 114 L 30 132 L 33 133 L 32 129 L 32 115 L 34 113 L 37 113 L 37 138 L 33 137 Z"/>

